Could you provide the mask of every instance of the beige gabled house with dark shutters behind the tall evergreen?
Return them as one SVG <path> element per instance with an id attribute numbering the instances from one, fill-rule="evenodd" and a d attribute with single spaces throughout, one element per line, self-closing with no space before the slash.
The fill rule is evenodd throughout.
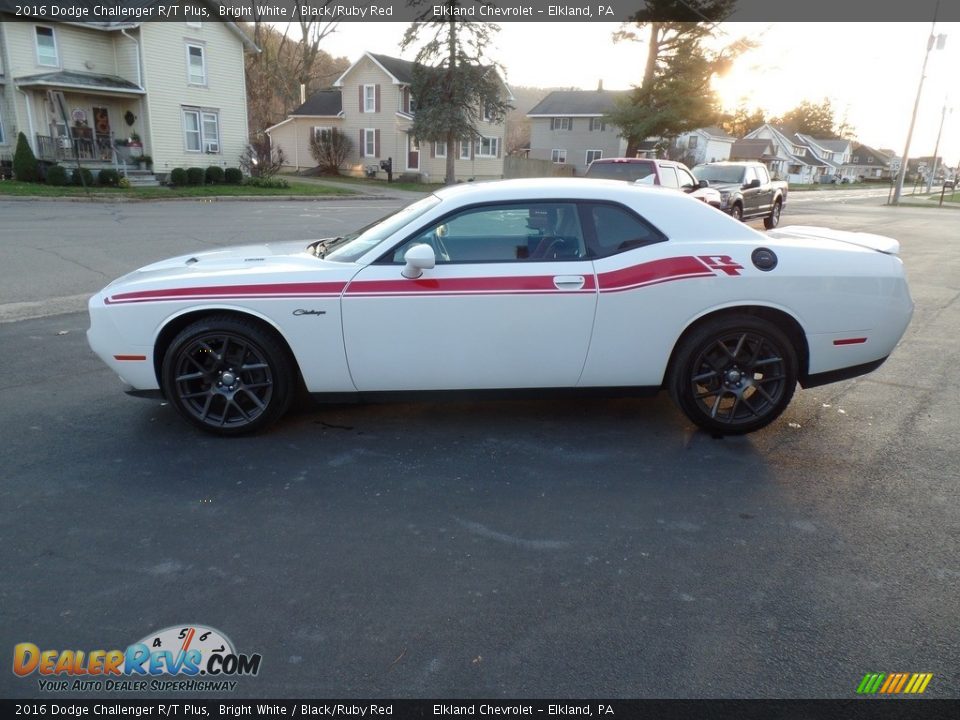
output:
<path id="1" fill-rule="evenodd" d="M 267 128 L 271 144 L 283 150 L 289 169 L 316 166 L 310 138 L 337 128 L 352 141 L 345 173 L 384 173 L 380 162 L 391 160 L 394 176 L 415 174 L 425 182 L 441 182 L 446 174 L 446 146 L 421 145 L 413 136 L 416 99 L 410 94 L 414 64 L 408 60 L 364 53 L 334 83 L 293 110 L 285 120 Z M 513 95 L 503 84 L 504 96 Z M 503 123 L 481 122 L 479 135 L 464 138 L 456 147 L 454 170 L 458 180 L 503 177 Z"/>

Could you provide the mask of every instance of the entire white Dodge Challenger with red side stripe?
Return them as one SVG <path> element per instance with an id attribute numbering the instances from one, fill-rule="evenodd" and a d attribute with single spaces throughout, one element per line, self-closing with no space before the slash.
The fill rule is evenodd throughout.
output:
<path id="1" fill-rule="evenodd" d="M 667 389 L 711 432 L 775 419 L 797 382 L 869 372 L 913 310 L 895 240 L 759 233 L 681 193 L 580 179 L 441 189 L 342 238 L 183 255 L 90 299 L 93 350 L 221 434 L 298 388 Z"/>

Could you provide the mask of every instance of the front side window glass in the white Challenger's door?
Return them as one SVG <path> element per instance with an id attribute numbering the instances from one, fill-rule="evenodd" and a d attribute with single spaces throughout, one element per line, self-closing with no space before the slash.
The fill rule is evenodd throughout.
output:
<path id="1" fill-rule="evenodd" d="M 464 210 L 417 232 L 381 261 L 403 264 L 413 245 L 433 248 L 437 264 L 535 262 L 586 257 L 573 203 L 510 203 Z"/>

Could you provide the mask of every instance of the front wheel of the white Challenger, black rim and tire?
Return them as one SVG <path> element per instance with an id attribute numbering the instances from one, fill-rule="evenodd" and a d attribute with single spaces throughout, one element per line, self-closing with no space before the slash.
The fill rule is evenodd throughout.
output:
<path id="1" fill-rule="evenodd" d="M 286 412 L 296 386 L 294 364 L 273 333 L 226 315 L 181 331 L 164 354 L 161 378 L 177 412 L 216 435 L 269 427 Z"/>

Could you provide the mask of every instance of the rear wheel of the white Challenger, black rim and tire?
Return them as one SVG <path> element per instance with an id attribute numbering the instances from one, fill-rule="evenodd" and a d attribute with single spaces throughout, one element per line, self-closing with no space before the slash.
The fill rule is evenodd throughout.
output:
<path id="1" fill-rule="evenodd" d="M 773 323 L 752 315 L 708 320 L 681 338 L 668 380 L 691 421 L 721 435 L 769 425 L 797 386 L 797 351 Z"/>

